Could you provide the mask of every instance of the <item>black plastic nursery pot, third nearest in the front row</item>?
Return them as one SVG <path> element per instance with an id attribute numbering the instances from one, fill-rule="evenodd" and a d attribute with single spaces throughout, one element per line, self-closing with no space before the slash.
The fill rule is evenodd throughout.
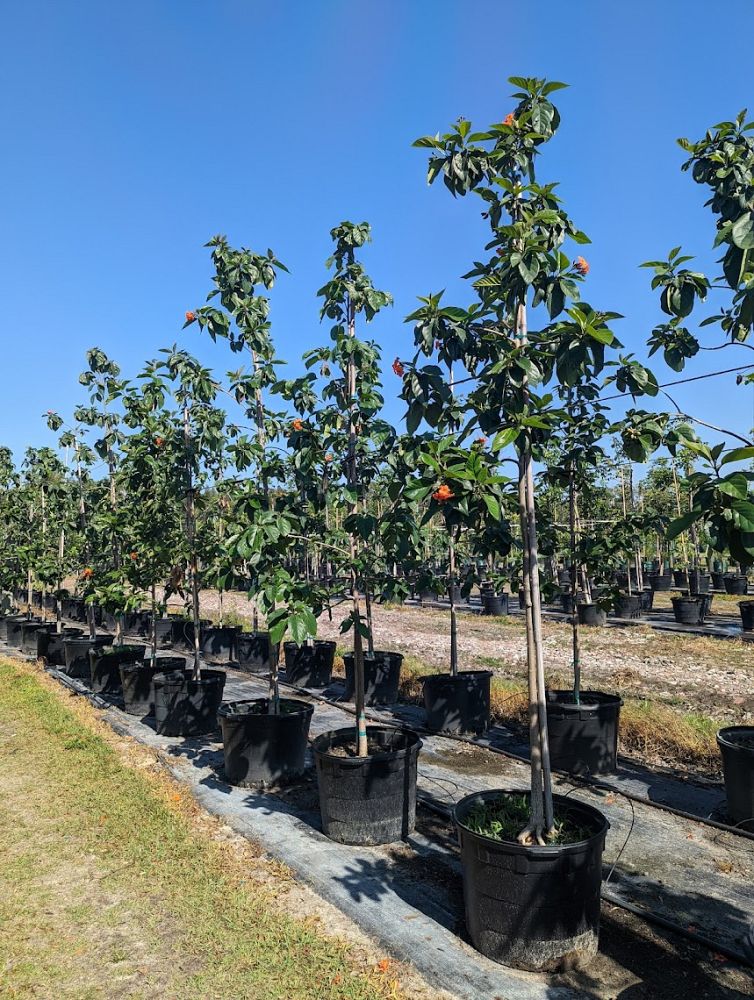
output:
<path id="1" fill-rule="evenodd" d="M 277 714 L 269 709 L 268 698 L 220 706 L 225 780 L 231 785 L 277 785 L 304 773 L 314 706 L 281 698 Z"/>

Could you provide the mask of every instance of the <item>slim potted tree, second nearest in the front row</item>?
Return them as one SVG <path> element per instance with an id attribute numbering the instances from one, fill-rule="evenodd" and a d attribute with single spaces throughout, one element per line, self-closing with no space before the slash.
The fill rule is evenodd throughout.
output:
<path id="1" fill-rule="evenodd" d="M 367 223 L 343 222 L 331 231 L 335 248 L 328 265 L 333 274 L 320 289 L 322 315 L 333 321 L 332 347 L 311 352 L 310 364 L 319 363 L 336 375 L 323 390 L 328 401 L 319 415 L 320 428 L 330 449 L 345 456 L 345 474 L 333 484 L 336 504 L 344 510 L 348 533 L 347 558 L 341 565 L 350 581 L 349 614 L 341 632 L 353 635 L 351 686 L 356 708 L 356 727 L 318 736 L 313 743 L 317 764 L 322 826 L 333 840 L 349 844 L 389 843 L 405 838 L 416 815 L 416 764 L 421 741 L 415 733 L 387 726 L 367 726 L 365 705 L 371 691 L 374 699 L 392 695 L 393 678 L 400 671 L 400 654 L 365 655 L 372 650 L 372 630 L 365 618 L 360 580 L 372 567 L 369 551 L 377 536 L 376 519 L 365 511 L 367 483 L 363 469 L 374 433 L 372 418 L 379 411 L 379 351 L 376 344 L 357 336 L 359 316 L 369 322 L 390 303 L 386 292 L 377 290 L 356 251 L 370 239 Z M 348 671 L 348 661 L 346 663 Z M 382 687 L 382 691 L 380 688 Z M 395 684 L 397 688 L 397 683 Z M 347 694 L 349 692 L 347 674 Z"/>

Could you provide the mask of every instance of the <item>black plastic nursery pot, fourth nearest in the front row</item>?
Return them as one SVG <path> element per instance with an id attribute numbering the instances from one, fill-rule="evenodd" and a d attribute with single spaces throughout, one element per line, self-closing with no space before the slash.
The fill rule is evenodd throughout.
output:
<path id="1" fill-rule="evenodd" d="M 202 736 L 217 728 L 217 710 L 223 700 L 224 670 L 192 670 L 155 674 L 153 681 L 155 728 L 161 736 Z"/>

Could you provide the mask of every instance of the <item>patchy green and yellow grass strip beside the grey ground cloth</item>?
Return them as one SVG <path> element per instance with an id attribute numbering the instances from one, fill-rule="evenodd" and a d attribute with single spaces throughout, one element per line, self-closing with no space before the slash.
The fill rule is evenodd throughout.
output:
<path id="1" fill-rule="evenodd" d="M 87 712 L 34 668 L 0 662 L 0 996 L 399 996 L 285 912 L 284 870 L 244 864 Z"/>

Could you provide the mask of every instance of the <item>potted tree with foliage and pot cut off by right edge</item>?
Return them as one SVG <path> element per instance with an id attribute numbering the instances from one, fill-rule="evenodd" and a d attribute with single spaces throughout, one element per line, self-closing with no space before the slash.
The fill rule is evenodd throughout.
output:
<path id="1" fill-rule="evenodd" d="M 670 319 L 653 331 L 650 348 L 662 350 L 674 370 L 683 369 L 686 359 L 700 350 L 698 337 L 687 326 L 688 318 L 708 289 L 725 292 L 727 302 L 720 311 L 700 325 L 718 324 L 724 340 L 718 346 L 745 344 L 754 329 L 754 215 L 750 192 L 754 184 L 754 141 L 742 111 L 734 121 L 721 122 L 709 129 L 698 142 L 679 140 L 688 154 L 683 169 L 690 170 L 694 181 L 709 188 L 707 204 L 715 217 L 715 246 L 723 251 L 722 274 L 710 281 L 704 274 L 684 267 L 691 260 L 674 248 L 667 260 L 648 261 L 653 272 L 652 287 L 661 289 L 660 305 Z M 748 345 L 747 345 L 748 346 Z M 739 375 L 738 382 L 749 384 L 751 375 Z M 754 498 L 751 482 L 754 474 L 736 469 L 741 462 L 754 458 L 754 442 L 744 435 L 716 427 L 688 414 L 679 416 L 722 435 L 723 441 L 709 446 L 694 435 L 684 442 L 702 460 L 703 468 L 688 479 L 692 493 L 691 509 L 678 517 L 668 529 L 668 537 L 677 537 L 693 525 L 705 524 L 713 549 L 729 553 L 741 570 L 754 562 Z M 641 420 L 641 416 L 638 418 Z M 732 441 L 733 447 L 727 442 Z M 729 467 L 734 466 L 733 471 Z M 745 573 L 737 574 L 744 577 Z M 727 579 L 726 589 L 727 589 Z M 734 589 L 741 582 L 733 584 Z M 738 823 L 752 824 L 754 816 L 754 726 L 726 727 L 717 735 L 723 758 L 728 796 L 728 812 Z"/>

